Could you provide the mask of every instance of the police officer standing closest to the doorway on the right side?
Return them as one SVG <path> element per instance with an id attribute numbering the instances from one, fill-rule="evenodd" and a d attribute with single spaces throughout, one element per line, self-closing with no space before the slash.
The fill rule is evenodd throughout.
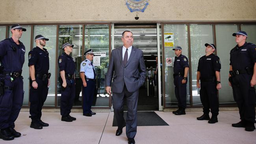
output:
<path id="1" fill-rule="evenodd" d="M 187 73 L 189 70 L 188 60 L 185 55 L 182 55 L 182 48 L 176 46 L 174 49 L 175 60 L 173 68 L 173 78 L 175 85 L 175 96 L 178 100 L 179 109 L 173 111 L 175 115 L 186 114 L 185 109 L 187 107 L 186 97 L 187 97 Z"/>

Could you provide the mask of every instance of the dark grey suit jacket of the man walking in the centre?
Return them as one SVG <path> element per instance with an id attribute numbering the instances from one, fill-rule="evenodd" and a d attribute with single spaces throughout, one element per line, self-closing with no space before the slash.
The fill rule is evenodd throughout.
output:
<path id="1" fill-rule="evenodd" d="M 122 62 L 122 47 L 112 50 L 106 76 L 106 87 L 112 86 L 112 92 L 121 93 L 125 84 L 128 92 L 135 92 L 143 85 L 145 78 L 146 66 L 141 50 L 132 46 L 126 66 Z"/>

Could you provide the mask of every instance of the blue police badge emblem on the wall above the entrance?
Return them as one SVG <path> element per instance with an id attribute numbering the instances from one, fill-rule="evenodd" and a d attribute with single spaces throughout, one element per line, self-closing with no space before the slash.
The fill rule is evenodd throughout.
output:
<path id="1" fill-rule="evenodd" d="M 148 6 L 148 0 L 125 0 L 125 2 L 130 12 L 144 12 Z"/>

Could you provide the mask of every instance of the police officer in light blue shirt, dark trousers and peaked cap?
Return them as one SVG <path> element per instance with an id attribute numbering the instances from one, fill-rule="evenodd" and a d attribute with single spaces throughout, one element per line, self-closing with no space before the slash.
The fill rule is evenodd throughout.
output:
<path id="1" fill-rule="evenodd" d="M 87 50 L 84 55 L 86 59 L 80 65 L 80 77 L 83 81 L 83 115 L 92 116 L 96 114 L 91 111 L 96 79 L 95 67 L 92 63 L 93 50 Z"/>

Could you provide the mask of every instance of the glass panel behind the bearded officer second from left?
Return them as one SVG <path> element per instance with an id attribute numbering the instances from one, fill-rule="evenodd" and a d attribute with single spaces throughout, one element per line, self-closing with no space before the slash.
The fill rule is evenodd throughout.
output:
<path id="1" fill-rule="evenodd" d="M 49 52 L 49 72 L 52 73 L 52 76 L 50 78 L 48 95 L 44 106 L 55 106 L 56 33 L 57 26 L 34 26 L 33 39 L 35 39 L 36 35 L 43 35 L 49 39 L 49 41 L 46 41 L 46 46 L 44 48 Z M 33 47 L 35 47 L 35 41 L 33 41 Z"/>

